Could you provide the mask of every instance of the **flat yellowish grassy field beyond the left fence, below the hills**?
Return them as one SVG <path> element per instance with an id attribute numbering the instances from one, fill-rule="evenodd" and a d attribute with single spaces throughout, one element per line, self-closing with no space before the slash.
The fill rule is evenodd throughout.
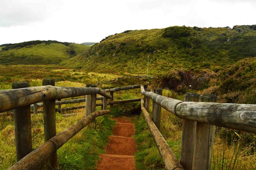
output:
<path id="1" fill-rule="evenodd" d="M 15 81 L 41 86 L 42 79 L 54 79 L 56 86 L 85 87 L 86 83 L 110 80 L 120 75 L 82 72 L 61 65 L 0 65 L 0 90 L 11 89 Z"/>

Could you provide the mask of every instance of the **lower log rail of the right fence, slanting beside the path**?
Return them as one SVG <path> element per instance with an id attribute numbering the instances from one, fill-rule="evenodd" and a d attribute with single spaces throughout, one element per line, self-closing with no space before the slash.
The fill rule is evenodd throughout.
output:
<path id="1" fill-rule="evenodd" d="M 153 136 L 153 140 L 157 146 L 158 152 L 160 153 L 163 162 L 165 164 L 165 168 L 167 170 L 184 170 L 182 165 L 179 163 L 179 160 L 171 151 L 170 147 L 166 143 L 165 139 L 159 132 L 158 128 L 155 126 L 155 123 L 151 120 L 150 115 L 144 107 L 144 99 L 141 99 L 141 110 L 145 117 L 145 120 L 148 124 L 148 128 L 150 130 L 151 135 Z"/>

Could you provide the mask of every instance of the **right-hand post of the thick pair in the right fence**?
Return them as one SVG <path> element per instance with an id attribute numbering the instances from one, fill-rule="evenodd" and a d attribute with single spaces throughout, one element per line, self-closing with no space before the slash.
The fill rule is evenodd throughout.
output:
<path id="1" fill-rule="evenodd" d="M 217 102 L 216 95 L 205 94 L 199 97 L 200 102 Z M 210 170 L 214 143 L 215 125 L 197 122 L 196 145 L 192 169 Z"/>

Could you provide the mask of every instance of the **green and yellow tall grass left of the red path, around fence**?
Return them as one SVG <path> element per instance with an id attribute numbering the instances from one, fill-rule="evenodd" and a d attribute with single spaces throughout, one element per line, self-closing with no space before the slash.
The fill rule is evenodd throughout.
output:
<path id="1" fill-rule="evenodd" d="M 70 127 L 73 123 L 82 119 L 85 109 L 77 110 L 77 115 L 63 117 L 56 114 L 57 133 Z M 11 116 L 2 117 L 0 120 L 0 169 L 8 169 L 16 162 L 15 137 L 13 119 Z M 99 160 L 99 154 L 104 153 L 108 136 L 114 122 L 109 115 L 96 118 L 86 128 L 70 139 L 57 151 L 59 169 L 94 169 Z M 31 116 L 33 149 L 44 143 L 43 115 Z"/>

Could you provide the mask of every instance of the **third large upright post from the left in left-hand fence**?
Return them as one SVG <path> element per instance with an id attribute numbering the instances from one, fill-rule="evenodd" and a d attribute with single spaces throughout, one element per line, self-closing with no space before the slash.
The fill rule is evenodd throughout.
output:
<path id="1" fill-rule="evenodd" d="M 97 87 L 93 84 L 86 84 L 86 87 Z M 96 110 L 96 95 L 86 95 L 85 96 L 85 114 L 86 116 L 90 115 L 92 112 Z"/>

